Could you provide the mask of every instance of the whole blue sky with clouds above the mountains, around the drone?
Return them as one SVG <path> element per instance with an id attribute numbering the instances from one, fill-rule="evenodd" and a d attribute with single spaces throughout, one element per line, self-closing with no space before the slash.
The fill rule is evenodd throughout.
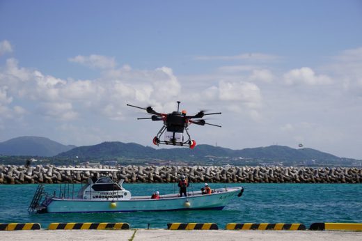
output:
<path id="1" fill-rule="evenodd" d="M 362 159 L 362 1 L 0 0 L 0 141 L 153 146 L 126 104 L 176 101 L 222 112 L 198 144 Z"/>

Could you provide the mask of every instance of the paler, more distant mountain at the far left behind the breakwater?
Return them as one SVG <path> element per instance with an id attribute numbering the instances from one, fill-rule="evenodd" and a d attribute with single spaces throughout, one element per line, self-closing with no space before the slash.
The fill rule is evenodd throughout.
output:
<path id="1" fill-rule="evenodd" d="M 0 155 L 52 157 L 76 146 L 65 146 L 45 137 L 17 137 L 0 143 Z"/>

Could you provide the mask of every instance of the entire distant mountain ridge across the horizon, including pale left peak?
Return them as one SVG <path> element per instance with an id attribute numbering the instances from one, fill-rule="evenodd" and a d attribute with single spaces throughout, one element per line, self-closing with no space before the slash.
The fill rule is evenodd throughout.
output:
<path id="1" fill-rule="evenodd" d="M 45 137 L 17 137 L 0 143 L 0 155 L 38 156 L 58 160 L 109 161 L 121 163 L 189 163 L 189 164 L 235 164 L 235 165 L 362 165 L 362 160 L 341 158 L 312 148 L 267 146 L 232 150 L 219 146 L 198 145 L 194 150 L 184 147 L 155 149 L 138 143 L 106 141 L 93 146 L 65 146 Z M 357 161 L 357 162 L 356 162 Z"/>

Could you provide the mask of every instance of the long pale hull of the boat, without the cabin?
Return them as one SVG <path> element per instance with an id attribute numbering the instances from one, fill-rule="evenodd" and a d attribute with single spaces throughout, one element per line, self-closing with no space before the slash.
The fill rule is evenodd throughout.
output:
<path id="1" fill-rule="evenodd" d="M 236 198 L 242 187 L 224 189 L 208 195 L 191 195 L 177 197 L 165 195 L 162 199 L 145 199 L 137 197 L 122 201 L 95 201 L 84 199 L 48 199 L 47 212 L 136 212 L 136 211 L 168 211 L 168 210 L 221 210 Z M 173 197 L 175 196 L 175 197 Z M 240 196 L 240 195 L 239 195 Z"/>

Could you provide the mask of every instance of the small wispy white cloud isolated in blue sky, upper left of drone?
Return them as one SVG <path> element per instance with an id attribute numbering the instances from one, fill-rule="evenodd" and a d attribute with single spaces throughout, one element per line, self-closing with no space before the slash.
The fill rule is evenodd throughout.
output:
<path id="1" fill-rule="evenodd" d="M 116 61 L 113 57 L 97 54 L 92 54 L 90 56 L 78 55 L 74 58 L 68 59 L 68 61 L 80 63 L 81 65 L 85 65 L 89 68 L 112 69 L 116 67 Z"/>

